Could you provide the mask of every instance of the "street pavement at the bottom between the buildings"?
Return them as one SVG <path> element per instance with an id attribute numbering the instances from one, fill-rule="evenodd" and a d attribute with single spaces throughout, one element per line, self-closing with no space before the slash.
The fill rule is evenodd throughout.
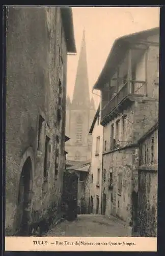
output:
<path id="1" fill-rule="evenodd" d="M 75 221 L 67 220 L 49 230 L 48 237 L 131 237 L 130 228 L 114 217 L 78 215 Z"/>

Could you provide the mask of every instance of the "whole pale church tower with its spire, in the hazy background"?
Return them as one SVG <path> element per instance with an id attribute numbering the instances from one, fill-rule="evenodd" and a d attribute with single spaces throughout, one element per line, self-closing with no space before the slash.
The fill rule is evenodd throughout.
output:
<path id="1" fill-rule="evenodd" d="M 78 59 L 73 99 L 70 102 L 69 97 L 67 97 L 66 105 L 66 135 L 70 138 L 65 143 L 68 160 L 87 161 L 91 159 L 92 138 L 89 135 L 89 130 L 94 115 L 94 100 L 93 98 L 90 100 L 89 93 L 84 31 Z"/>

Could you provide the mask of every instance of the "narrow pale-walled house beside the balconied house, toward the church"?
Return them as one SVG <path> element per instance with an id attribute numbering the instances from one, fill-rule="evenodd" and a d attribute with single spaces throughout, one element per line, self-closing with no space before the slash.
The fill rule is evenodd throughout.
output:
<path id="1" fill-rule="evenodd" d="M 100 124 L 100 104 L 89 133 L 92 135 L 90 209 L 93 214 L 101 214 L 103 126 Z"/>

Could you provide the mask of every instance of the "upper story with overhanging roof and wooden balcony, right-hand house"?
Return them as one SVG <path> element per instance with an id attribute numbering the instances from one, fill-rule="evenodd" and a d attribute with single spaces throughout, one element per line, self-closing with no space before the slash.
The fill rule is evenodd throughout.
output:
<path id="1" fill-rule="evenodd" d="M 118 38 L 93 89 L 101 91 L 105 125 L 137 97 L 158 100 L 159 28 Z"/>

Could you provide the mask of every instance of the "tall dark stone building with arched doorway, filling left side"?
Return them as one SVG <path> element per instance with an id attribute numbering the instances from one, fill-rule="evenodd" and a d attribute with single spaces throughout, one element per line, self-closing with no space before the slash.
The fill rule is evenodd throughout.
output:
<path id="1" fill-rule="evenodd" d="M 8 7 L 6 236 L 60 214 L 71 8 Z M 42 225 L 43 227 L 43 225 Z"/>

